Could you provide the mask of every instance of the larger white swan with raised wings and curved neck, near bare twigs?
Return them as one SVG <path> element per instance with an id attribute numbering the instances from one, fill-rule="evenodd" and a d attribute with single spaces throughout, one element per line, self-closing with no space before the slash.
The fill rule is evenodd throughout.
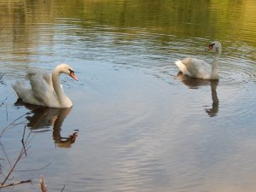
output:
<path id="1" fill-rule="evenodd" d="M 64 94 L 61 87 L 61 73 L 66 73 L 78 80 L 72 67 L 67 64 L 60 64 L 55 67 L 53 73 L 43 69 L 29 69 L 26 77 L 30 81 L 31 87 L 27 87 L 20 81 L 12 84 L 12 86 L 22 102 L 49 108 L 70 108 L 72 102 Z"/>

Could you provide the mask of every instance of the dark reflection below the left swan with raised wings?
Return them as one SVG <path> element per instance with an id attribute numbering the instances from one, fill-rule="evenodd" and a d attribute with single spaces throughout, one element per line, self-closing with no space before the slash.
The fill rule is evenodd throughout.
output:
<path id="1" fill-rule="evenodd" d="M 28 120 L 27 126 L 33 131 L 53 126 L 53 139 L 58 147 L 70 148 L 75 143 L 78 137 L 78 131 L 73 131 L 68 137 L 61 137 L 61 126 L 72 108 L 45 108 L 25 104 L 20 102 L 20 100 L 15 105 L 22 105 L 31 110 L 31 113 L 26 116 L 26 119 Z"/>

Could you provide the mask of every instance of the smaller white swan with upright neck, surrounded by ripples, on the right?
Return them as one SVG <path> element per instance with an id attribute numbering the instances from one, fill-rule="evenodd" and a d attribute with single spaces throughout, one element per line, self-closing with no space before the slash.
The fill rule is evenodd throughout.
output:
<path id="1" fill-rule="evenodd" d="M 209 44 L 207 50 L 215 49 L 215 57 L 212 67 L 205 61 L 196 58 L 185 58 L 182 61 L 176 61 L 179 71 L 183 75 L 197 79 L 215 79 L 218 80 L 218 59 L 221 53 L 221 44 L 218 41 L 213 41 Z"/>

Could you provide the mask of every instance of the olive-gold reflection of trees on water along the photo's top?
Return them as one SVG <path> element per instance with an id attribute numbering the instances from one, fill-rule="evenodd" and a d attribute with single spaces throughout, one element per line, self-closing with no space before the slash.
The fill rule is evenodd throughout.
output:
<path id="1" fill-rule="evenodd" d="M 148 32 L 154 28 L 165 34 L 176 34 L 178 37 L 187 37 L 188 33 L 192 37 L 203 37 L 205 34 L 215 37 L 219 28 L 222 28 L 226 29 L 224 35 L 227 37 L 240 38 L 246 33 L 247 37 L 256 38 L 253 30 L 237 28 L 241 26 L 245 28 L 250 24 L 249 21 L 255 20 L 253 1 L 229 0 L 219 3 L 214 0 L 195 3 L 193 0 L 179 2 L 121 0 L 117 3 L 110 0 L 63 0 L 60 3 L 59 1 L 24 0 L 16 3 L 8 2 L 1 3 L 0 24 L 8 23 L 9 27 L 4 30 L 8 28 L 9 33 L 13 35 L 11 42 L 19 44 L 20 41 L 24 41 L 26 47 L 30 47 L 29 44 L 36 44 L 27 37 L 33 35 L 40 38 L 42 24 L 51 25 L 56 22 L 55 18 L 63 16 L 84 21 L 76 22 L 75 25 L 85 28 L 99 24 L 114 26 L 121 30 L 125 30 L 125 27 L 127 32 L 131 32 L 129 30 L 131 27 L 140 27 Z M 237 8 L 241 11 L 238 12 Z M 89 24 L 88 20 L 92 22 Z M 209 24 L 211 27 L 204 27 Z M 47 30 L 53 30 L 48 35 L 54 34 L 54 27 L 49 26 Z M 54 35 L 47 38 L 53 41 Z"/>

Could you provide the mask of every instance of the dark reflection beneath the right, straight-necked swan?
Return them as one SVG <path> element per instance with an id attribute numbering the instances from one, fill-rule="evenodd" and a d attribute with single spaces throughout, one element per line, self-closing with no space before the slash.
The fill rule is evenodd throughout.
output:
<path id="1" fill-rule="evenodd" d="M 190 77 L 183 76 L 183 73 L 177 73 L 177 79 L 179 79 L 183 84 L 187 85 L 190 89 L 198 89 L 200 86 L 211 85 L 212 90 L 212 108 L 206 108 L 206 112 L 209 117 L 217 116 L 218 113 L 218 96 L 217 96 L 217 86 L 218 81 L 216 80 L 204 80 L 204 79 L 194 79 Z"/>

